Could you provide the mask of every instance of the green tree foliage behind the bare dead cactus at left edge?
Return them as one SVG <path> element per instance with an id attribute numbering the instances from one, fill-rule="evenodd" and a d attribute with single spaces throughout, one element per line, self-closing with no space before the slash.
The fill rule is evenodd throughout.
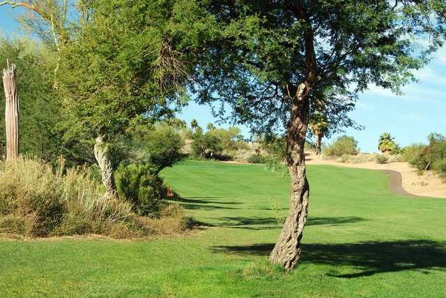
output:
<path id="1" fill-rule="evenodd" d="M 56 160 L 63 153 L 61 134 L 57 130 L 61 121 L 61 100 L 52 89 L 52 57 L 45 47 L 30 40 L 0 40 L 0 61 L 4 68 L 6 60 L 17 65 L 20 153 L 45 161 Z M 3 85 L 0 93 L 3 96 Z M 4 110 L 1 104 L 0 155 L 6 154 Z"/>

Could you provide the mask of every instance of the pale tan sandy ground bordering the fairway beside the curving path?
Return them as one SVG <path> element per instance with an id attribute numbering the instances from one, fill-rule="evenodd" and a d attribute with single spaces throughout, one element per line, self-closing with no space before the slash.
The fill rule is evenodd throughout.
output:
<path id="1" fill-rule="evenodd" d="M 388 164 L 363 162 L 360 164 L 348 164 L 334 160 L 323 160 L 316 155 L 308 155 L 305 157 L 305 164 L 367 168 L 370 170 L 385 171 L 390 175 L 390 189 L 398 194 L 403 194 L 404 196 L 446 198 L 446 183 L 436 173 L 424 171 L 423 175 L 418 175 L 417 170 L 407 162 L 390 162 Z"/>

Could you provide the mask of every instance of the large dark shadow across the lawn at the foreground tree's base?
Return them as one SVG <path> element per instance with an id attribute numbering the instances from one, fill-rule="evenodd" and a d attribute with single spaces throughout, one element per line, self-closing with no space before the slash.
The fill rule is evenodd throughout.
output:
<path id="1" fill-rule="evenodd" d="M 268 256 L 274 244 L 247 246 L 214 246 L 213 251 L 241 255 Z M 400 240 L 358 242 L 346 244 L 302 244 L 302 262 L 350 266 L 358 270 L 352 274 L 328 274 L 352 279 L 386 272 L 417 270 L 429 274 L 431 270 L 446 269 L 446 242 L 431 240 Z"/>

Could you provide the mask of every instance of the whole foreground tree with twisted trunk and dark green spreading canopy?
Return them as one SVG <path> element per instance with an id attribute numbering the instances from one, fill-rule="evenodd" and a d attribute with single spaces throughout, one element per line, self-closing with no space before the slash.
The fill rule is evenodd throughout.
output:
<path id="1" fill-rule="evenodd" d="M 411 70 L 420 68 L 429 52 L 441 45 L 445 2 L 201 3 L 215 15 L 220 36 L 210 42 L 196 69 L 191 89 L 199 102 L 220 100 L 222 109 L 215 113 L 247 123 L 255 132 L 286 130 L 290 212 L 270 260 L 293 269 L 308 214 L 304 144 L 309 117 L 319 107 L 317 95 L 329 93 L 323 108 L 330 120 L 340 109 L 353 106 L 355 93 L 370 84 L 399 92 L 413 79 Z M 418 47 L 417 38 L 429 40 L 429 46 Z M 228 106 L 230 115 L 224 113 Z"/>

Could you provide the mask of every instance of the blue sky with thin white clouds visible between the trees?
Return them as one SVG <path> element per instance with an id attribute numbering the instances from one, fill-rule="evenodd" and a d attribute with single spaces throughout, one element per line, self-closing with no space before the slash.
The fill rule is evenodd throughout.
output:
<path id="1" fill-rule="evenodd" d="M 14 17 L 18 12 L 17 8 L 13 13 L 9 7 L 0 6 L 2 36 L 20 35 L 20 24 Z M 400 146 L 426 142 L 426 136 L 431 132 L 446 134 L 446 47 L 433 56 L 429 65 L 415 72 L 415 77 L 419 81 L 404 87 L 401 96 L 376 86 L 370 86 L 369 91 L 360 94 L 350 116 L 365 129 L 346 130 L 346 134 L 357 139 L 362 151 L 376 152 L 378 137 L 383 132 L 390 132 Z M 196 118 L 203 127 L 217 120 L 208 107 L 193 102 L 178 117 L 188 123 Z M 249 136 L 247 128 L 241 128 Z"/>

